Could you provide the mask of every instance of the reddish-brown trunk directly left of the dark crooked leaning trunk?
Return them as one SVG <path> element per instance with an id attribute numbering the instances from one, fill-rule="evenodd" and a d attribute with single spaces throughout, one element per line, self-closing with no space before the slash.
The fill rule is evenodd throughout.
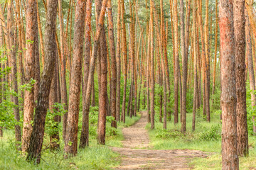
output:
<path id="1" fill-rule="evenodd" d="M 36 1 L 26 1 L 26 40 L 31 40 L 31 43 L 26 43 L 26 55 L 25 55 L 25 83 L 29 84 L 31 79 L 35 79 L 35 55 L 36 55 L 36 36 L 38 36 L 37 30 L 37 12 L 36 12 Z M 33 43 L 32 43 L 33 42 Z M 30 91 L 25 91 L 24 98 L 24 109 L 23 109 L 23 141 L 22 150 L 26 152 L 28 149 L 28 144 L 30 142 L 30 137 L 32 133 L 33 112 L 34 112 L 34 88 Z"/>

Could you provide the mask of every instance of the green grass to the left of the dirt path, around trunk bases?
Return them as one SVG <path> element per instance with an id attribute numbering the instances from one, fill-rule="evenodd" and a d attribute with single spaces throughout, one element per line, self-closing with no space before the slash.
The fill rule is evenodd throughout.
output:
<path id="1" fill-rule="evenodd" d="M 106 135 L 106 145 L 97 145 L 95 136 L 90 135 L 90 147 L 78 149 L 77 157 L 63 159 L 63 140 L 60 140 L 60 150 L 42 152 L 41 164 L 34 165 L 26 162 L 26 155 L 18 152 L 14 144 L 14 131 L 4 130 L 4 137 L 0 138 L 0 169 L 112 169 L 120 163 L 119 154 L 112 152 L 109 147 L 122 147 L 122 128 L 133 125 L 139 120 L 137 118 L 126 118 L 126 123 L 118 123 L 117 135 Z M 107 123 L 107 128 L 110 123 Z M 61 128 L 61 127 L 60 127 Z M 79 136 L 79 135 L 78 135 Z M 61 137 L 61 133 L 60 133 Z M 80 137 L 78 137 L 78 141 Z M 48 145 L 49 138 L 46 135 L 44 146 Z"/>

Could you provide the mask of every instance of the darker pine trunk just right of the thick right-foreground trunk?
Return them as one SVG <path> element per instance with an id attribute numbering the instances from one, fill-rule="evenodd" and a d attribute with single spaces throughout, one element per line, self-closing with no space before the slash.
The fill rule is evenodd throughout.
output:
<path id="1" fill-rule="evenodd" d="M 245 80 L 245 0 L 234 1 L 235 76 L 237 94 L 238 156 L 248 154 Z M 251 61 L 252 62 L 252 61 Z M 253 62 L 252 62 L 253 63 Z"/>

